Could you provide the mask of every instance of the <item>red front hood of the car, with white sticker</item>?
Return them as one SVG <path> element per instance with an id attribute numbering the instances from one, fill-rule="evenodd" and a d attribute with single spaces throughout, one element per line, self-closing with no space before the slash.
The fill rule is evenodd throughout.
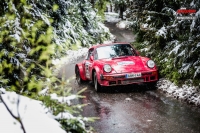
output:
<path id="1" fill-rule="evenodd" d="M 146 70 L 140 56 L 124 56 L 104 60 L 105 64 L 111 65 L 116 73 L 141 72 Z"/>

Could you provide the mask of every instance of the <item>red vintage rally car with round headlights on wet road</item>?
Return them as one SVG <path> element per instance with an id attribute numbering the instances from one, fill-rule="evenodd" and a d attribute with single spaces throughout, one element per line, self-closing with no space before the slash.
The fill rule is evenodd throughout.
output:
<path id="1" fill-rule="evenodd" d="M 90 80 L 96 91 L 102 86 L 127 84 L 156 85 L 158 70 L 153 60 L 141 57 L 128 43 L 92 46 L 81 63 L 75 65 L 78 84 Z"/>

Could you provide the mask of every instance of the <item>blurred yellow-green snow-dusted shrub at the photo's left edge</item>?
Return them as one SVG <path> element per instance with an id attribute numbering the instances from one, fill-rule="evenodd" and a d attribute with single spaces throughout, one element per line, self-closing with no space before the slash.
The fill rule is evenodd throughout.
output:
<path id="1" fill-rule="evenodd" d="M 1 77 L 7 79 L 5 88 L 17 93 L 38 92 L 42 88 L 41 65 L 48 64 L 54 53 L 52 27 L 33 17 L 24 3 L 3 1 L 0 17 Z"/>

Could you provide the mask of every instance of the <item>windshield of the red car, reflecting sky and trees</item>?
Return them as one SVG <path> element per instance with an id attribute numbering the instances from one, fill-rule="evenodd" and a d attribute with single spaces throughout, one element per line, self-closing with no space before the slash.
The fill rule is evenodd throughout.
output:
<path id="1" fill-rule="evenodd" d="M 98 59 L 133 56 L 133 48 L 129 44 L 115 44 L 96 49 Z"/>

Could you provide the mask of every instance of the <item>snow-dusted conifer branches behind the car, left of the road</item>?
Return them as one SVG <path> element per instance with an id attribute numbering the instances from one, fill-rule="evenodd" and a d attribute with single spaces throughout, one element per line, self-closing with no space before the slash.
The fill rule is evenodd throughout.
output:
<path id="1" fill-rule="evenodd" d="M 110 37 L 102 19 L 87 0 L 42 0 L 34 3 L 37 10 L 48 14 L 54 21 L 54 41 L 57 49 L 66 54 L 74 45 L 89 46 L 102 43 Z M 60 51 L 56 52 L 57 56 Z"/>

